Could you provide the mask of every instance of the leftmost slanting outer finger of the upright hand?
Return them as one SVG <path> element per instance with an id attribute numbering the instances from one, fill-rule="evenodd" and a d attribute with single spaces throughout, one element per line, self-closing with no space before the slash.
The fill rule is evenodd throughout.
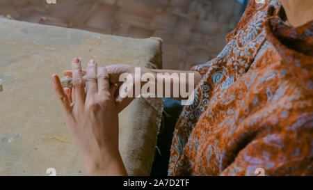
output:
<path id="1" fill-rule="evenodd" d="M 68 100 L 67 95 L 65 95 L 63 87 L 61 85 L 60 78 L 58 75 L 54 74 L 52 75 L 52 83 L 54 84 L 54 92 L 56 93 L 56 96 L 58 97 L 58 100 L 60 100 L 63 110 L 65 113 L 70 114 L 72 112 L 72 106 L 70 103 L 70 100 Z"/>

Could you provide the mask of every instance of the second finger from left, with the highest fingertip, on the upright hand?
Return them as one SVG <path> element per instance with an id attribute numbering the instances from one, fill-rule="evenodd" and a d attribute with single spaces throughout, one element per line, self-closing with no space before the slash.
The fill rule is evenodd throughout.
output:
<path id="1" fill-rule="evenodd" d="M 79 58 L 74 58 L 72 61 L 72 70 L 73 70 L 73 91 L 75 95 L 75 103 L 82 103 L 85 102 L 85 85 L 83 83 L 83 76 L 81 72 L 81 61 Z"/>

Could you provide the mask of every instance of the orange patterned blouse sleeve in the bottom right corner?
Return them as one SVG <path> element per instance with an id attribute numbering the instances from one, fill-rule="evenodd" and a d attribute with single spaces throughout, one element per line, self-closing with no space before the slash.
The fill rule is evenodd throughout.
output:
<path id="1" fill-rule="evenodd" d="M 312 126 L 311 119 L 250 142 L 221 175 L 313 175 Z"/>

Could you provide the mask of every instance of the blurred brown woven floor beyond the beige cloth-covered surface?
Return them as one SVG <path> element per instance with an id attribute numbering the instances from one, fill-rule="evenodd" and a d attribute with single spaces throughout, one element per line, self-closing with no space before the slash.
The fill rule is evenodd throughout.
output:
<path id="1" fill-rule="evenodd" d="M 51 0 L 48 0 L 51 1 Z M 163 69 L 214 58 L 246 0 L 0 0 L 0 15 L 25 22 L 132 38 L 163 39 Z"/>

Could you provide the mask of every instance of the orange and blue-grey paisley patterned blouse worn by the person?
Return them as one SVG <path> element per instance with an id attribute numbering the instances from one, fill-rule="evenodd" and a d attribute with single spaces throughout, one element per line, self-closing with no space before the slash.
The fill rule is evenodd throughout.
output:
<path id="1" fill-rule="evenodd" d="M 313 175 L 313 22 L 250 1 L 175 127 L 168 175 Z"/>

